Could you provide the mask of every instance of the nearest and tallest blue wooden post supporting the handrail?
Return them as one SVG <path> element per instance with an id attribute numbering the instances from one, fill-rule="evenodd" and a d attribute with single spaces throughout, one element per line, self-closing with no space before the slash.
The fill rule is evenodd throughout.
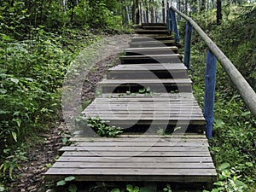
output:
<path id="1" fill-rule="evenodd" d="M 215 98 L 215 79 L 216 79 L 217 60 L 211 50 L 207 50 L 207 67 L 206 67 L 206 85 L 205 85 L 205 100 L 204 100 L 204 117 L 207 120 L 206 133 L 207 138 L 212 137 L 213 125 L 213 108 Z"/>

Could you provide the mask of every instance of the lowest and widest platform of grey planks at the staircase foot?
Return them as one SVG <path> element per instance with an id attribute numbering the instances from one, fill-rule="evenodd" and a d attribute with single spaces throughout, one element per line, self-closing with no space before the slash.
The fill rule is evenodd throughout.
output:
<path id="1" fill-rule="evenodd" d="M 216 172 L 202 135 L 73 137 L 48 180 L 212 183 Z"/>

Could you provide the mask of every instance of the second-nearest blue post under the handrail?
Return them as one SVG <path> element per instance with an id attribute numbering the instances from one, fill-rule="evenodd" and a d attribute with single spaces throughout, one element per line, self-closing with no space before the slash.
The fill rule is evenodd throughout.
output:
<path id="1" fill-rule="evenodd" d="M 186 23 L 186 37 L 184 48 L 184 65 L 189 69 L 190 65 L 190 52 L 191 52 L 191 38 L 192 38 L 193 26 L 187 21 Z"/>

